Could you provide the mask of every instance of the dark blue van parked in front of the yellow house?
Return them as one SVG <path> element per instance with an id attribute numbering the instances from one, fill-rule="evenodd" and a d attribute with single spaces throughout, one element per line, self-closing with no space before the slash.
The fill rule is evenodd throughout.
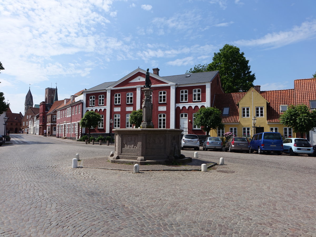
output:
<path id="1" fill-rule="evenodd" d="M 279 132 L 260 132 L 253 135 L 250 141 L 249 153 L 258 151 L 258 154 L 264 152 L 270 153 L 275 152 L 281 155 L 283 152 L 283 141 L 282 136 Z"/>

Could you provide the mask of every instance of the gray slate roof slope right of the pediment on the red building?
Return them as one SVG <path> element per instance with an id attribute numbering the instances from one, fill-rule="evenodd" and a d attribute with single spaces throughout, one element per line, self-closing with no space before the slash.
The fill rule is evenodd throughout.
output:
<path id="1" fill-rule="evenodd" d="M 199 83 L 199 82 L 210 82 L 218 73 L 218 71 L 210 72 L 197 72 L 182 74 L 176 76 L 162 76 L 161 78 L 166 79 L 170 82 L 175 82 L 178 84 L 190 84 L 190 83 Z M 188 76 L 190 75 L 190 76 Z"/>

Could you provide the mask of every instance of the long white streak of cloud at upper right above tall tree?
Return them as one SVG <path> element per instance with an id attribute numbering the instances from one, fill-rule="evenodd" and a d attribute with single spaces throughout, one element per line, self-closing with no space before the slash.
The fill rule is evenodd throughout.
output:
<path id="1" fill-rule="evenodd" d="M 295 26 L 289 31 L 280 31 L 278 33 L 268 33 L 264 37 L 256 40 L 237 40 L 235 45 L 239 46 L 265 46 L 278 48 L 303 40 L 316 37 L 316 20 L 306 21 L 301 26 Z"/>

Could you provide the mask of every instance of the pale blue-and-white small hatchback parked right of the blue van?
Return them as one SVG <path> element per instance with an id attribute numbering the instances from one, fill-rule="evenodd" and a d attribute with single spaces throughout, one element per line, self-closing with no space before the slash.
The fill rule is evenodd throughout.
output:
<path id="1" fill-rule="evenodd" d="M 290 155 L 313 154 L 313 146 L 305 138 L 290 137 L 283 141 L 283 152 Z"/>

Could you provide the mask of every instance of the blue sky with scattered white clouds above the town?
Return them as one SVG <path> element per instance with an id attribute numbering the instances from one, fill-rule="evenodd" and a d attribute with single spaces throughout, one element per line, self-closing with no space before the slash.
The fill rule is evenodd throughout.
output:
<path id="1" fill-rule="evenodd" d="M 138 67 L 160 76 L 240 48 L 261 90 L 294 88 L 316 71 L 315 0 L 0 0 L 0 91 L 24 114 L 45 88 L 58 99 Z"/>

